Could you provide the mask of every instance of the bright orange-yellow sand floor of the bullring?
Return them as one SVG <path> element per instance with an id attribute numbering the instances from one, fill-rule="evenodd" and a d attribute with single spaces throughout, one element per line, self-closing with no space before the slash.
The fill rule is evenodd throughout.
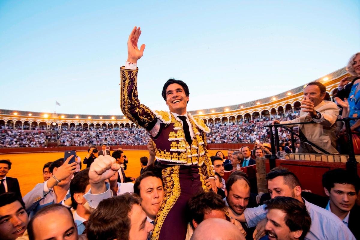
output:
<path id="1" fill-rule="evenodd" d="M 217 150 L 210 150 L 209 155 L 215 155 Z M 124 152 L 129 163 L 125 174 L 127 177 L 138 177 L 140 175 L 140 157 L 149 156 L 146 150 L 127 150 Z M 227 150 L 222 150 L 227 154 Z M 79 151 L 77 155 L 84 159 L 87 151 Z M 27 194 L 37 183 L 43 182 L 42 167 L 45 163 L 63 158 L 64 153 L 22 153 L 2 154 L 0 159 L 10 159 L 13 163 L 7 176 L 16 177 L 19 180 L 21 194 Z M 84 164 L 82 164 L 84 169 Z"/>

